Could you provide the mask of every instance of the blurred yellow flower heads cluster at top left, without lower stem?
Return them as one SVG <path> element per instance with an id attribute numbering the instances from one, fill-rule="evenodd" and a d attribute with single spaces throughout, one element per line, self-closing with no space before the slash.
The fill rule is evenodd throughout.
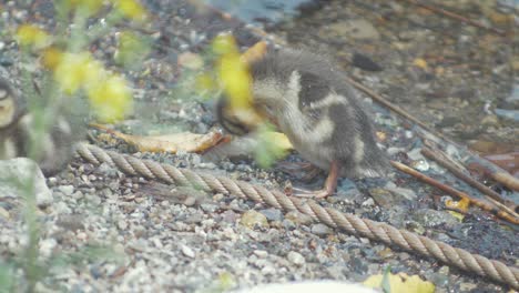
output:
<path id="1" fill-rule="evenodd" d="M 59 0 L 54 6 L 58 20 L 54 36 L 30 23 L 20 26 L 16 32 L 26 59 L 39 59 L 42 70 L 52 74 L 49 80 L 55 84 L 43 84 L 51 89 L 47 92 L 50 97 L 44 97 L 49 101 L 47 107 L 86 95 L 101 122 L 122 120 L 133 107 L 130 85 L 124 77 L 96 60 L 89 47 L 120 22 L 145 21 L 147 12 L 133 0 Z M 146 40 L 132 31 L 118 37 L 115 63 L 134 67 L 142 62 L 149 52 Z"/>

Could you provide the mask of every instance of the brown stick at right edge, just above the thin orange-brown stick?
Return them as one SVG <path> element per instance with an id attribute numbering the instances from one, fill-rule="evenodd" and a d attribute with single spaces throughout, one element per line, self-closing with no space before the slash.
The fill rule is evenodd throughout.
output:
<path id="1" fill-rule="evenodd" d="M 465 181 L 470 186 L 479 190 L 481 193 L 487 194 L 493 200 L 500 203 L 503 203 L 505 206 L 507 206 L 507 212 L 519 219 L 519 215 L 515 212 L 518 209 L 518 205 L 515 202 L 502 198 L 501 194 L 495 192 L 493 190 L 487 188 L 486 185 L 479 183 L 478 181 L 474 180 L 471 176 L 464 173 L 452 162 L 449 162 L 450 159 L 448 159 L 445 154 L 442 154 L 440 150 L 432 150 L 427 146 L 424 146 L 421 148 L 421 153 L 425 156 L 431 160 L 435 160 L 437 163 L 439 163 L 445 169 L 449 170 L 452 174 L 455 174 L 457 178 Z"/>

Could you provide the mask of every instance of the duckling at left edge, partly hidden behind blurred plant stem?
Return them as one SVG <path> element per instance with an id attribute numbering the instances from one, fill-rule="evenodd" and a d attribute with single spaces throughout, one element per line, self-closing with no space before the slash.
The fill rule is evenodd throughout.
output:
<path id="1" fill-rule="evenodd" d="M 52 127 L 38 142 L 39 163 L 43 174 L 61 171 L 72 156 L 77 129 L 63 115 L 52 121 Z M 6 79 L 0 78 L 0 160 L 29 156 L 29 143 L 33 135 L 33 117 L 28 113 L 24 100 L 17 94 Z"/>

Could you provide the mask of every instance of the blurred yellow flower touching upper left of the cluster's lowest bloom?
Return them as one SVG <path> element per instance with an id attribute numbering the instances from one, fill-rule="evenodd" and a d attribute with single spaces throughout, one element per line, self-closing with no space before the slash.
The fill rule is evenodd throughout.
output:
<path id="1" fill-rule="evenodd" d="M 54 79 L 67 94 L 80 87 L 91 87 L 104 79 L 102 64 L 88 52 L 63 53 L 54 70 Z"/>

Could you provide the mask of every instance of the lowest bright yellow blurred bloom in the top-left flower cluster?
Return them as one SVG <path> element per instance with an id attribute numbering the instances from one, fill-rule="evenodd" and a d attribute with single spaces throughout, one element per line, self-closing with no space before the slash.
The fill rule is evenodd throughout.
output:
<path id="1" fill-rule="evenodd" d="M 111 75 L 88 89 L 93 112 L 102 122 L 121 120 L 132 110 L 132 94 L 124 79 Z"/>

